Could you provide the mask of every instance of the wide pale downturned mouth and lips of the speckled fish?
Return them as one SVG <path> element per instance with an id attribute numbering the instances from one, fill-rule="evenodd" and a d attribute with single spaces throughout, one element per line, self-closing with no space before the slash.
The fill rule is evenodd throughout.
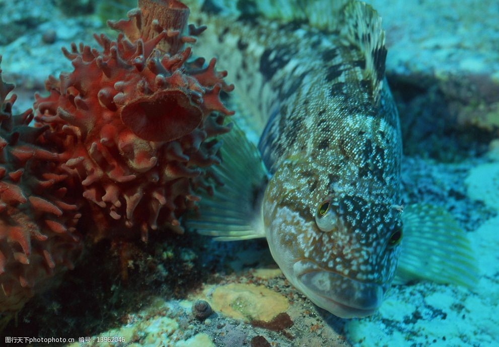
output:
<path id="1" fill-rule="evenodd" d="M 366 317 L 376 312 L 383 302 L 381 284 L 357 281 L 311 261 L 299 261 L 293 269 L 307 297 L 338 317 Z"/>

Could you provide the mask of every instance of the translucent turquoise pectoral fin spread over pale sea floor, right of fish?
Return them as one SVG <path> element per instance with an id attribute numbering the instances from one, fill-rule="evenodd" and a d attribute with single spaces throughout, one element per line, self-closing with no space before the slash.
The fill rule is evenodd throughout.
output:
<path id="1" fill-rule="evenodd" d="M 450 213 L 431 205 L 410 205 L 404 222 L 395 284 L 429 280 L 472 287 L 478 281 L 475 254 Z"/>

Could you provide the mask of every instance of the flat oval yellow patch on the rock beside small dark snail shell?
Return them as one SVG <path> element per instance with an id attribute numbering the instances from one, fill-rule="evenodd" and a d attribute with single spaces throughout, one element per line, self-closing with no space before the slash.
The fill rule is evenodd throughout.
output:
<path id="1" fill-rule="evenodd" d="M 220 286 L 211 296 L 211 306 L 215 311 L 244 321 L 270 321 L 289 307 L 288 299 L 253 284 L 231 283 Z"/>

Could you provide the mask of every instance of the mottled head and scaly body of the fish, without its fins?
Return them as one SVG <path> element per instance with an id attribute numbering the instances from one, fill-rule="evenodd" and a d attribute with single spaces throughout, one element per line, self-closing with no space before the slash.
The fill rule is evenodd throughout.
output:
<path id="1" fill-rule="evenodd" d="M 263 221 L 276 263 L 318 306 L 372 314 L 394 277 L 400 249 L 389 240 L 402 228 L 401 135 L 385 56 L 371 74 L 383 83 L 376 95 L 365 55 L 338 33 L 260 18 L 203 21 L 218 35 L 203 39 L 213 45 L 205 49 L 229 62 L 236 109 L 261 134 L 273 174 Z"/>

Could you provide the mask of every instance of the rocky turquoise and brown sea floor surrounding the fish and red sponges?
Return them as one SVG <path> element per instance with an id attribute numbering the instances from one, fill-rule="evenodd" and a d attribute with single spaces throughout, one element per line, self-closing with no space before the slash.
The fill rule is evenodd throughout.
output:
<path id="1" fill-rule="evenodd" d="M 475 286 L 394 285 L 373 316 L 341 319 L 290 285 L 264 240 L 158 233 L 147 245 L 127 245 L 133 254 L 127 264 L 119 261 L 120 246 L 89 246 L 80 265 L 58 279 L 58 289 L 33 298 L 2 334 L 74 338 L 30 343 L 72 347 L 496 346 L 499 30 L 489 16 L 480 18 L 497 5 L 482 2 L 480 12 L 465 1 L 470 11 L 448 14 L 454 7 L 447 1 L 418 2 L 399 18 L 391 2 L 374 3 L 386 13 L 387 74 L 404 137 L 404 201 L 437 205 L 456 218 L 477 257 Z M 31 106 L 49 73 L 71 68 L 61 46 L 90 43 L 94 31 L 105 30 L 96 16 L 68 18 L 41 0 L 0 2 L 0 11 L 13 18 L 2 16 L 2 27 L 24 25 L 0 41 L 4 80 L 17 84 L 19 111 Z M 470 34 L 480 28 L 488 36 Z M 54 41 L 43 38 L 52 30 Z"/>

